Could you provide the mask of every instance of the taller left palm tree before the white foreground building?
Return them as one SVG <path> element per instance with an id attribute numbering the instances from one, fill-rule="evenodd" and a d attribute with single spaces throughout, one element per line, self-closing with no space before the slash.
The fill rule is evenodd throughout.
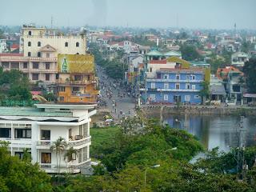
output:
<path id="1" fill-rule="evenodd" d="M 66 149 L 67 143 L 65 138 L 59 137 L 53 144 L 50 146 L 50 150 L 54 151 L 56 154 L 56 164 L 57 164 L 57 174 L 60 174 L 60 163 L 61 163 L 61 154 L 62 151 Z"/>

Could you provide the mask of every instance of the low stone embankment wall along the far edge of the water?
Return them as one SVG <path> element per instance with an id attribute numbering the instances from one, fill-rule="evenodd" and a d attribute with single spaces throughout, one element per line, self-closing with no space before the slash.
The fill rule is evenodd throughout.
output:
<path id="1" fill-rule="evenodd" d="M 251 106 L 142 106 L 146 114 L 242 114 L 256 115 L 256 107 Z"/>

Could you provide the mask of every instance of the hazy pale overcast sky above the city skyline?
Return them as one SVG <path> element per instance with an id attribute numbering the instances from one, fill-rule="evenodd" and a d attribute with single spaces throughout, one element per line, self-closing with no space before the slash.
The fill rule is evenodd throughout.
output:
<path id="1" fill-rule="evenodd" d="M 0 25 L 256 30 L 256 0 L 5 0 Z"/>

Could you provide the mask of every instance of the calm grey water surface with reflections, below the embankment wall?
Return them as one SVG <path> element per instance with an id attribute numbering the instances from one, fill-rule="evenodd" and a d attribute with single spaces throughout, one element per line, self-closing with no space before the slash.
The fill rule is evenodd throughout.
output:
<path id="1" fill-rule="evenodd" d="M 186 121 L 185 121 L 186 119 Z M 168 115 L 163 117 L 171 127 L 182 128 L 194 134 L 206 149 L 216 146 L 227 151 L 238 146 L 238 123 L 240 118 L 220 115 Z M 256 117 L 244 118 L 246 146 L 256 145 Z"/>

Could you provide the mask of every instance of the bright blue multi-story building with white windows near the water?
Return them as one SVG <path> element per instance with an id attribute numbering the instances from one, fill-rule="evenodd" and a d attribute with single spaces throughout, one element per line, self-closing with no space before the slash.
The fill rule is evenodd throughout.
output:
<path id="1" fill-rule="evenodd" d="M 144 101 L 147 98 L 150 103 L 201 103 L 204 77 L 201 69 L 160 69 L 154 78 L 146 78 L 146 91 L 142 92 L 142 98 Z"/>

